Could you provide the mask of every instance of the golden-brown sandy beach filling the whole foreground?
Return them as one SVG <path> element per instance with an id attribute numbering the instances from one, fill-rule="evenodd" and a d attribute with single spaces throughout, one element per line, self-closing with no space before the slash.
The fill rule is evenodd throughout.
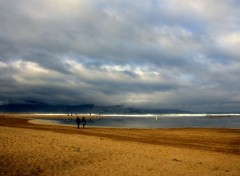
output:
<path id="1" fill-rule="evenodd" d="M 76 129 L 26 118 L 0 116 L 1 176 L 240 175 L 239 129 Z"/>

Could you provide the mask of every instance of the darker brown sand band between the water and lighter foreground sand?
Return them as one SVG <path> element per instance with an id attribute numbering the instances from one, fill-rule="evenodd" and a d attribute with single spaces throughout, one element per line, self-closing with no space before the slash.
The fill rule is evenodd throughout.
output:
<path id="1" fill-rule="evenodd" d="M 200 150 L 210 150 L 240 155 L 240 129 L 228 128 L 102 128 L 86 127 L 77 129 L 74 126 L 32 124 L 28 121 L 32 116 L 0 117 L 0 126 L 27 128 L 35 130 L 54 131 L 58 133 L 81 134 L 88 136 L 108 137 L 117 140 L 190 147 Z M 189 134 L 190 133 L 190 137 Z M 207 136 L 206 136 L 207 134 Z M 221 134 L 221 136 L 218 136 Z M 230 135 L 232 134 L 232 135 Z M 140 136 L 140 137 L 139 137 Z M 223 141 L 218 141 L 219 137 Z M 223 145 L 224 144 L 224 145 Z"/>

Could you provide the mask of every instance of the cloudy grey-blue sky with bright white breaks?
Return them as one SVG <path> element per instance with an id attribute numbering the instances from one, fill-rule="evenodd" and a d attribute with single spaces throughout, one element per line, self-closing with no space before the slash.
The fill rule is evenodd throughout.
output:
<path id="1" fill-rule="evenodd" d="M 0 105 L 240 111 L 239 0 L 0 0 Z"/>

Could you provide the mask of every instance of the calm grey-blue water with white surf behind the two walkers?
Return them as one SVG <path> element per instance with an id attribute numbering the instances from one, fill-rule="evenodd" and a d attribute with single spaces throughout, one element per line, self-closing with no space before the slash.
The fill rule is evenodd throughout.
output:
<path id="1" fill-rule="evenodd" d="M 76 125 L 74 118 L 54 118 L 46 121 L 58 125 Z M 240 128 L 240 114 L 115 114 L 87 119 L 86 126 L 114 128 Z"/>

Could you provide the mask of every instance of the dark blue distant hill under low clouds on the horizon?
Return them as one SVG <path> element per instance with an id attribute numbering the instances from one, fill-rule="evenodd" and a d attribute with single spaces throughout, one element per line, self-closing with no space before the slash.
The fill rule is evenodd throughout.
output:
<path id="1" fill-rule="evenodd" d="M 50 105 L 45 103 L 6 104 L 0 105 L 1 113 L 95 113 L 95 114 L 147 114 L 147 113 L 187 113 L 177 109 L 138 109 L 123 105 L 98 106 L 83 105 Z"/>

